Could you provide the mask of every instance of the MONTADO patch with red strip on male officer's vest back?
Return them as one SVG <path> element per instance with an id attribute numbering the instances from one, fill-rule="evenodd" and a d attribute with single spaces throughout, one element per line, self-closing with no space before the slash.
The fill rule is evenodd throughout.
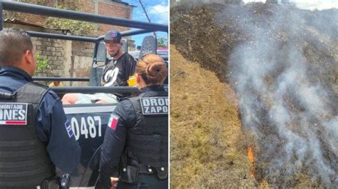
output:
<path id="1" fill-rule="evenodd" d="M 0 126 L 27 126 L 28 103 L 0 103 Z"/>

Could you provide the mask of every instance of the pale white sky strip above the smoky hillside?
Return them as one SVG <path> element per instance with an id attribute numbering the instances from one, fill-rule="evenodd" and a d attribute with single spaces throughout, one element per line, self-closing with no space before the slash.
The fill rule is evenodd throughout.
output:
<path id="1" fill-rule="evenodd" d="M 243 0 L 245 3 L 252 2 L 252 1 L 262 1 L 265 2 L 265 0 Z M 290 0 L 290 2 L 294 2 L 297 4 L 297 7 L 299 9 L 331 9 L 336 8 L 338 9 L 338 0 Z"/>

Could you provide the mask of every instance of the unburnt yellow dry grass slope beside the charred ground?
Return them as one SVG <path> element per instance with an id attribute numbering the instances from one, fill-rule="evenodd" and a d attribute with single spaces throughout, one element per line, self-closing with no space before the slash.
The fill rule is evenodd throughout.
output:
<path id="1" fill-rule="evenodd" d="M 253 187 L 235 94 L 170 48 L 170 188 Z"/>

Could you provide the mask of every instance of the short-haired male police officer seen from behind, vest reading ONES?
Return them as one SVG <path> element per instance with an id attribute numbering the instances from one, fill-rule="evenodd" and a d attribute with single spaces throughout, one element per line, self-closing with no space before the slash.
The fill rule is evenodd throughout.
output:
<path id="1" fill-rule="evenodd" d="M 80 161 L 60 98 L 34 83 L 35 49 L 19 29 L 0 31 L 0 188 L 40 188 Z"/>

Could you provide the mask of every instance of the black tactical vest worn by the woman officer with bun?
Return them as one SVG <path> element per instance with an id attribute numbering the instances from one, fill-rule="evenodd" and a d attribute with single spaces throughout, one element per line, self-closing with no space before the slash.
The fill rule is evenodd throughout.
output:
<path id="1" fill-rule="evenodd" d="M 128 129 L 127 145 L 138 163 L 167 171 L 168 92 L 147 91 L 129 98 L 137 123 Z"/>

